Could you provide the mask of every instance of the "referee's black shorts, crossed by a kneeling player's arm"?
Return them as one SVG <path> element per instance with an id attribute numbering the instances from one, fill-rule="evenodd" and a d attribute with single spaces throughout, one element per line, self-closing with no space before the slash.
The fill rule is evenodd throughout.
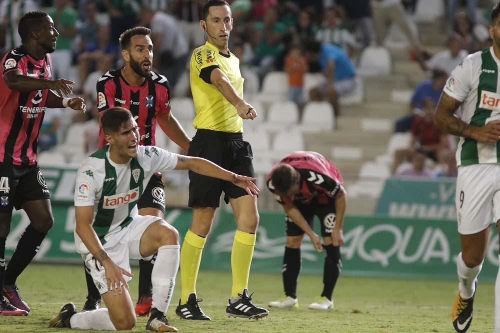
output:
<path id="1" fill-rule="evenodd" d="M 254 177 L 252 151 L 241 133 L 226 133 L 198 129 L 192 138 L 188 156 L 202 157 L 231 172 Z M 231 182 L 206 177 L 189 171 L 189 207 L 218 207 L 220 194 L 224 201 L 247 195 L 245 190 Z"/>

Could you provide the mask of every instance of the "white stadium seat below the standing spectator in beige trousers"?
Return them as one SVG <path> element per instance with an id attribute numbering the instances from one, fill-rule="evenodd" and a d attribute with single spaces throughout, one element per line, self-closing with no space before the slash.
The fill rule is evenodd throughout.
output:
<path id="1" fill-rule="evenodd" d="M 390 54 L 385 47 L 369 46 L 362 51 L 359 59 L 359 75 L 387 75 L 390 73 L 390 68 Z"/>

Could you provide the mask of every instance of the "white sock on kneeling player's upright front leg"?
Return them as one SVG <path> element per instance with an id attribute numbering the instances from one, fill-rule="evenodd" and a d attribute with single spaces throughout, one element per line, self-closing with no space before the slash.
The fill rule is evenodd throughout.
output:
<path id="1" fill-rule="evenodd" d="M 173 296 L 179 261 L 180 245 L 164 245 L 158 248 L 158 255 L 151 273 L 153 285 L 152 307 L 163 313 L 168 310 Z"/>

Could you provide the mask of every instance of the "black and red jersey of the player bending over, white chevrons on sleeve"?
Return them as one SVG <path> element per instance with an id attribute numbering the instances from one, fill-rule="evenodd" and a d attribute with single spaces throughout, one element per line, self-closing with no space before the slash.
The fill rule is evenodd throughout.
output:
<path id="1" fill-rule="evenodd" d="M 271 176 L 280 164 L 288 164 L 300 174 L 300 190 L 292 198 L 275 194 L 277 202 L 282 205 L 310 204 L 313 200 L 318 204 L 326 204 L 329 198 L 334 198 L 340 192 L 343 180 L 333 162 L 313 151 L 295 151 L 276 163 L 267 174 L 267 188 L 272 193 L 274 186 Z"/>

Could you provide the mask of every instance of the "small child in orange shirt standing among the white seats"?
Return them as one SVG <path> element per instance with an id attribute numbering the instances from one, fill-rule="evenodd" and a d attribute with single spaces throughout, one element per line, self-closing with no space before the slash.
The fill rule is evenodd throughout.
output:
<path id="1" fill-rule="evenodd" d="M 308 70 L 307 59 L 302 55 L 300 45 L 291 46 L 284 59 L 284 69 L 288 73 L 288 99 L 302 106 L 304 73 Z"/>

